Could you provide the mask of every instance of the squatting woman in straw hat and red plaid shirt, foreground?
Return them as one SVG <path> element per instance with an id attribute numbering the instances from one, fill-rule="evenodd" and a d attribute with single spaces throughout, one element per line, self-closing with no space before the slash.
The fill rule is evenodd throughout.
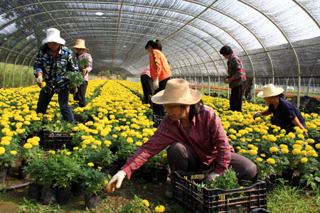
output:
<path id="1" fill-rule="evenodd" d="M 213 181 L 231 165 L 242 180 L 251 180 L 257 174 L 257 167 L 251 160 L 235 153 L 228 142 L 220 119 L 215 111 L 203 104 L 202 93 L 190 89 L 186 80 L 173 79 L 166 89 L 151 97 L 152 102 L 164 104 L 167 115 L 160 126 L 112 177 L 107 191 L 119 188 L 128 178 L 154 155 L 167 149 L 171 171 L 194 172 L 208 170 L 213 172 L 206 181 Z M 170 197 L 170 193 L 166 193 Z"/>

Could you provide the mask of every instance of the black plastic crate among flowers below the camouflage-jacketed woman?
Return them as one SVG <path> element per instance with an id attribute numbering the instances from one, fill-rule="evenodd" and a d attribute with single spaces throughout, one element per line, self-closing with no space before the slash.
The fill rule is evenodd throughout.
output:
<path id="1" fill-rule="evenodd" d="M 53 132 L 50 130 L 43 130 L 42 147 L 43 150 L 61 150 L 64 148 L 72 149 L 71 139 L 68 132 Z"/>

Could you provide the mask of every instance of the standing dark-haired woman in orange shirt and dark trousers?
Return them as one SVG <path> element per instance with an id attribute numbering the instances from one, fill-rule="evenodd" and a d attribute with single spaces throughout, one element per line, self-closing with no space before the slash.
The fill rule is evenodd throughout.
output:
<path id="1" fill-rule="evenodd" d="M 162 53 L 160 40 L 149 40 L 145 49 L 149 53 L 150 76 L 155 90 L 154 94 L 157 94 L 166 88 L 166 82 L 171 79 L 171 69 L 166 56 Z M 164 117 L 164 106 L 162 104 L 154 104 L 153 108 L 154 115 Z"/>

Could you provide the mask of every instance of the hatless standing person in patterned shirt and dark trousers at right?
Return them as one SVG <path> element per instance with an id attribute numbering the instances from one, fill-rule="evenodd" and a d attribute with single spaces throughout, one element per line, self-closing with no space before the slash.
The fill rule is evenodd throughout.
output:
<path id="1" fill-rule="evenodd" d="M 237 55 L 233 54 L 233 50 L 225 45 L 220 49 L 220 54 L 228 59 L 228 76 L 223 78 L 225 84 L 229 84 L 231 88 L 230 110 L 242 112 L 242 97 L 245 90 L 245 68 Z"/>

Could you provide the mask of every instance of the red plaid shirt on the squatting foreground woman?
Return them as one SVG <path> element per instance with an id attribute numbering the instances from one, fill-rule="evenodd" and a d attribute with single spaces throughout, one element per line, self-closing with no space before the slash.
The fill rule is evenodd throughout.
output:
<path id="1" fill-rule="evenodd" d="M 179 121 L 171 121 L 165 116 L 154 136 L 128 158 L 127 163 L 121 168 L 127 173 L 128 178 L 134 170 L 176 141 L 186 144 L 198 160 L 201 170 L 209 169 L 210 165 L 216 163 L 214 172 L 222 174 L 228 168 L 234 149 L 230 146 L 215 111 L 206 105 L 201 109 L 203 110 L 199 114 L 193 116 L 188 133 L 183 130 Z"/>

